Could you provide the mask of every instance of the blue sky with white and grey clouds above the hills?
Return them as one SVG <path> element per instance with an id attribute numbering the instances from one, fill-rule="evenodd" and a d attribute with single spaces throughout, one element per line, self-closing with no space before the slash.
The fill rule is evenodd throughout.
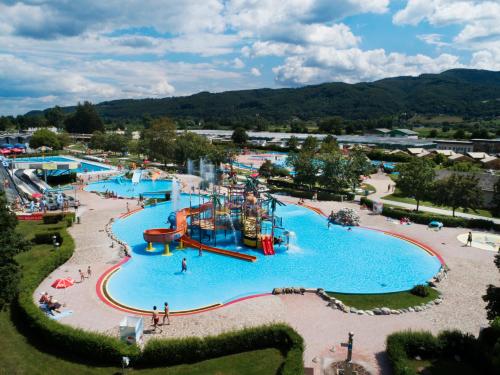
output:
<path id="1" fill-rule="evenodd" d="M 500 0 L 0 0 L 0 114 L 500 70 Z"/>

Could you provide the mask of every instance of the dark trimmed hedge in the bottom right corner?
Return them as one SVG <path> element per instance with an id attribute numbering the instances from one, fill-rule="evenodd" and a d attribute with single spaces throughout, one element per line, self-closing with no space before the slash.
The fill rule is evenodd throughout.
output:
<path id="1" fill-rule="evenodd" d="M 422 360 L 456 359 L 471 363 L 477 373 L 494 374 L 500 369 L 500 330 L 485 328 L 476 339 L 469 333 L 443 331 L 438 336 L 430 332 L 404 331 L 387 337 L 386 351 L 394 375 L 415 375 L 410 361 L 416 356 Z"/>

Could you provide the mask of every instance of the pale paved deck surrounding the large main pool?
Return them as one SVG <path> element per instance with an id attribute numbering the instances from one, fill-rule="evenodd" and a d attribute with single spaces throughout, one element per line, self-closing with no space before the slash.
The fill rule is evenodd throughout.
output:
<path id="1" fill-rule="evenodd" d="M 196 179 L 181 176 L 185 191 L 196 184 Z M 88 330 L 116 335 L 120 320 L 126 315 L 104 304 L 97 296 L 95 287 L 98 277 L 122 258 L 118 247 L 110 247 L 111 240 L 104 228 L 111 218 L 126 212 L 126 202 L 133 209 L 135 200 L 104 199 L 85 191 L 79 192 L 82 206 L 79 209 L 81 224 L 75 224 L 69 232 L 75 239 L 76 249 L 73 257 L 55 270 L 38 287 L 34 297 L 48 291 L 60 302 L 64 309 L 73 314 L 60 320 Z M 297 199 L 282 197 L 290 203 Z M 359 205 L 340 202 L 307 202 L 328 213 L 341 207 Z M 482 326 L 487 325 L 485 303 L 481 296 L 488 284 L 499 284 L 500 277 L 493 264 L 494 252 L 465 248 L 456 239 L 464 232 L 459 228 L 444 228 L 435 232 L 422 225 L 403 226 L 386 218 L 371 215 L 359 210 L 361 224 L 366 227 L 387 230 L 412 237 L 438 251 L 451 271 L 438 289 L 444 301 L 429 310 L 389 316 L 359 316 L 345 314 L 326 307 L 326 302 L 314 294 L 265 296 L 245 300 L 220 309 L 196 315 L 172 318 L 172 324 L 162 327 L 163 332 L 145 335 L 151 337 L 185 337 L 218 334 L 227 330 L 245 326 L 254 326 L 270 322 L 285 322 L 294 327 L 305 339 L 306 350 L 304 363 L 314 367 L 317 374 L 323 361 L 329 358 L 345 358 L 345 350 L 340 343 L 347 338 L 347 333 L 355 333 L 354 359 L 364 363 L 373 373 L 388 371 L 385 355 L 385 338 L 388 334 L 402 329 L 428 329 L 438 332 L 443 329 L 461 329 L 477 335 Z M 326 220 L 325 220 L 326 225 Z M 70 276 L 79 280 L 78 269 L 92 268 L 92 276 L 81 284 L 66 290 L 50 287 L 51 282 L 59 277 Z M 168 285 L 165 285 L 168 296 Z M 162 301 L 159 301 L 160 305 Z M 145 321 L 149 330 L 149 321 Z M 334 347 L 335 351 L 330 349 Z M 313 362 L 314 359 L 314 362 Z"/>

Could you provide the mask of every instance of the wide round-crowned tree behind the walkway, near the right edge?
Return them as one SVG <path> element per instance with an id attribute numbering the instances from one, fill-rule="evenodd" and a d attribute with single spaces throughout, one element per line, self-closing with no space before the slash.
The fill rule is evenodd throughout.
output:
<path id="1" fill-rule="evenodd" d="M 453 216 L 459 207 L 464 210 L 478 209 L 483 202 L 483 192 L 478 183 L 479 179 L 474 175 L 463 176 L 453 173 L 447 178 L 436 181 L 431 199 L 433 203 L 451 207 Z"/>

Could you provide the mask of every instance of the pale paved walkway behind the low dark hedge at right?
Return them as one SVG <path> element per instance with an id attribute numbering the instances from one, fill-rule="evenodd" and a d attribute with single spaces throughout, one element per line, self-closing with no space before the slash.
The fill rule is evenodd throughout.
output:
<path id="1" fill-rule="evenodd" d="M 403 202 L 396 202 L 388 199 L 383 199 L 384 196 L 391 194 L 391 192 L 387 191 L 388 185 L 393 186 L 394 181 L 392 181 L 386 174 L 384 173 L 377 173 L 371 176 L 371 179 L 366 181 L 370 185 L 373 185 L 377 191 L 370 195 L 371 199 L 379 199 L 383 203 L 391 204 L 393 206 L 398 206 L 398 207 L 403 207 L 407 208 L 410 210 L 414 210 L 417 208 L 417 205 L 411 204 L 411 203 L 403 203 Z M 450 210 L 445 210 L 442 208 L 435 208 L 435 207 L 427 207 L 427 206 L 422 206 L 420 205 L 419 207 L 420 211 L 425 211 L 425 212 L 433 212 L 439 215 L 448 215 L 452 216 L 453 212 Z M 479 216 L 479 215 L 473 215 L 473 214 L 466 214 L 463 212 L 455 212 L 455 216 L 458 217 L 464 217 L 468 219 L 482 219 L 482 220 L 491 220 L 496 224 L 500 224 L 500 219 L 495 219 L 491 217 L 484 217 L 484 216 Z"/>

